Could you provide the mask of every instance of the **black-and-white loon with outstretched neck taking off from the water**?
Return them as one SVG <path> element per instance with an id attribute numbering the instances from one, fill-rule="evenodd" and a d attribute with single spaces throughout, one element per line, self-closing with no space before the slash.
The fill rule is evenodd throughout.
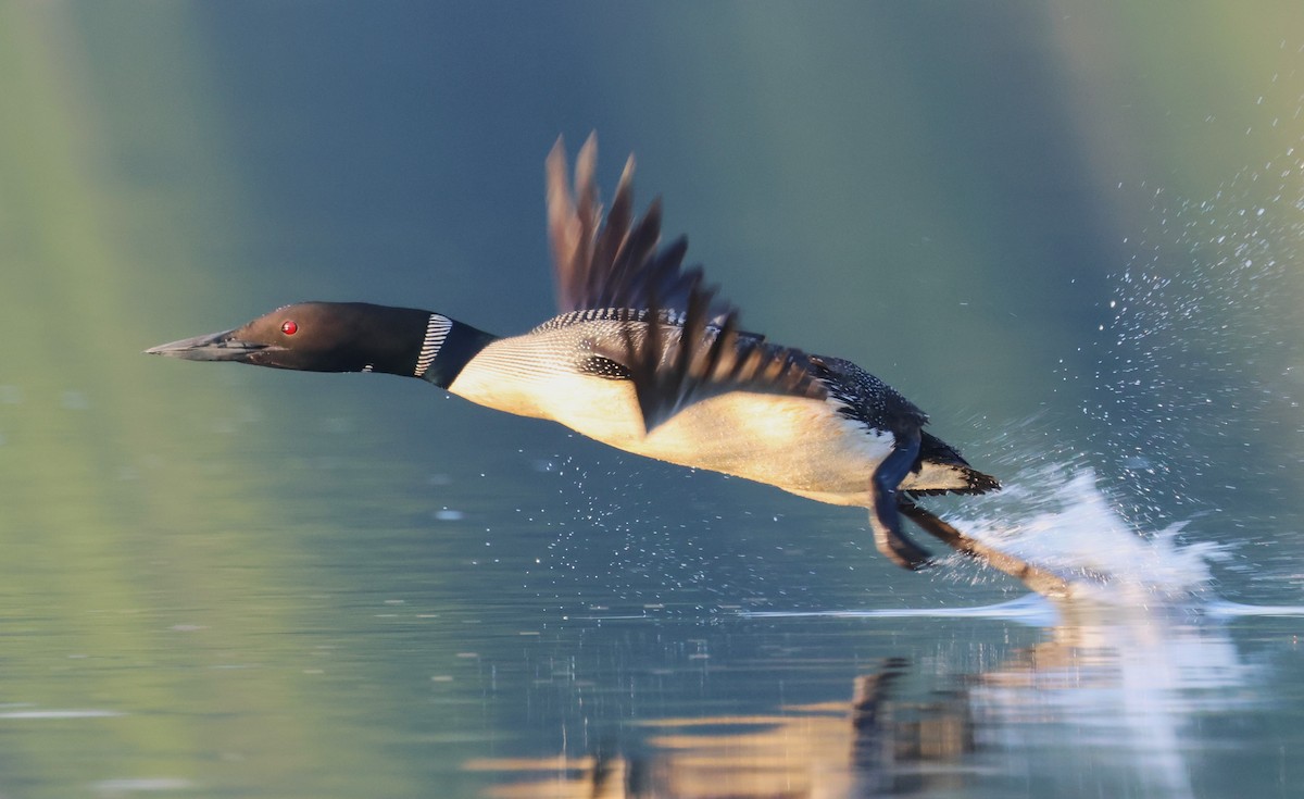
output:
<path id="1" fill-rule="evenodd" d="M 559 315 L 499 337 L 442 313 L 366 303 L 299 303 L 233 330 L 146 350 L 314 372 L 419 377 L 492 409 L 559 422 L 640 456 L 708 469 L 870 510 L 879 551 L 918 569 L 926 550 L 905 514 L 948 546 L 1037 590 L 1058 578 L 970 539 L 914 503 L 999 488 L 927 416 L 849 360 L 810 355 L 738 326 L 738 311 L 661 243 L 661 206 L 632 214 L 634 157 L 602 218 L 596 137 L 574 193 L 562 140 L 546 159 L 548 230 Z"/>

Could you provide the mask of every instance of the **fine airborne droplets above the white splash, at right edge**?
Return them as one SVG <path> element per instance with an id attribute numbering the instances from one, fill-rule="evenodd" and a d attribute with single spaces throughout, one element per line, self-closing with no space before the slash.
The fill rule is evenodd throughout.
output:
<path id="1" fill-rule="evenodd" d="M 1301 175 L 1304 144 L 1205 198 L 1129 187 L 1153 192 L 1149 214 L 1124 239 L 1093 369 L 1073 380 L 1101 475 L 1127 487 L 1119 509 L 1137 525 L 1251 496 L 1300 518 L 1279 497 L 1297 494 L 1304 462 Z"/>

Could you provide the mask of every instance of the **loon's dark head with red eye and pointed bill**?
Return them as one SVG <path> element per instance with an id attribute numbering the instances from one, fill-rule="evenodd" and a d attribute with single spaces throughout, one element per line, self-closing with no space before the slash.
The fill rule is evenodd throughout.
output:
<path id="1" fill-rule="evenodd" d="M 146 352 L 308 372 L 413 375 L 426 339 L 446 333 L 450 324 L 447 317 L 413 308 L 299 303 L 233 330 L 173 341 Z"/>

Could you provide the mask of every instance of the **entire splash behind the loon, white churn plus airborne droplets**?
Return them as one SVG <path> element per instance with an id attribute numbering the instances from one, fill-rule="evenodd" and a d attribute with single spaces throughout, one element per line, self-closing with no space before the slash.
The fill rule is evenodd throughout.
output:
<path id="1" fill-rule="evenodd" d="M 975 535 L 1046 565 L 1098 569 L 1110 591 L 1136 601 L 1211 602 L 1214 572 L 1240 571 L 1223 586 L 1234 591 L 1296 584 L 1295 550 L 1282 544 L 1304 530 L 1294 499 L 1304 465 L 1301 175 L 1304 144 L 1202 200 L 1128 187 L 1150 192 L 1149 214 L 1124 239 L 1132 256 L 1085 346 L 1090 369 L 1064 369 L 1082 392 L 1077 461 L 1094 469 L 1013 480 L 1015 496 L 996 507 L 1012 503 L 1017 522 L 978 518 Z M 1020 486 L 1056 507 L 1030 512 Z M 1232 563 L 1237 548 L 1257 563 Z"/>

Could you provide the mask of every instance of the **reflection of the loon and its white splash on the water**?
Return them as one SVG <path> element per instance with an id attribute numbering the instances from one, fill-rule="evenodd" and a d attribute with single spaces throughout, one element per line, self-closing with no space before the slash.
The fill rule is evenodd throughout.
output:
<path id="1" fill-rule="evenodd" d="M 1193 721 L 1243 706 L 1257 667 L 1241 665 L 1222 624 L 1189 611 L 1055 610 L 1047 640 L 978 674 L 935 676 L 889 658 L 853 679 L 850 701 L 642 721 L 636 753 L 464 768 L 498 776 L 496 799 L 862 799 L 1009 781 L 1029 795 L 1077 795 L 1084 783 L 1101 795 L 1197 795 Z"/>

